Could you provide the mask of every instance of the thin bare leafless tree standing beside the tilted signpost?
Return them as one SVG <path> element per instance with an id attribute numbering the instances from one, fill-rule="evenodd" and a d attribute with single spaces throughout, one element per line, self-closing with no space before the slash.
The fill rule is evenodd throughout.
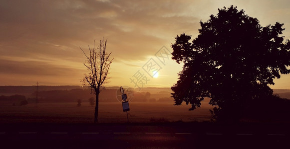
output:
<path id="1" fill-rule="evenodd" d="M 81 51 L 86 57 L 84 66 L 88 69 L 89 74 L 84 74 L 83 83 L 84 85 L 88 84 L 94 91 L 96 95 L 96 106 L 95 106 L 95 119 L 94 123 L 98 122 L 98 109 L 99 109 L 99 93 L 100 88 L 104 83 L 107 83 L 109 79 L 109 69 L 112 64 L 112 60 L 109 59 L 111 53 L 106 53 L 107 40 L 104 41 L 104 38 L 100 40 L 100 46 L 95 48 L 95 41 L 93 48 L 89 48 L 89 55 L 87 55 L 81 48 Z"/>

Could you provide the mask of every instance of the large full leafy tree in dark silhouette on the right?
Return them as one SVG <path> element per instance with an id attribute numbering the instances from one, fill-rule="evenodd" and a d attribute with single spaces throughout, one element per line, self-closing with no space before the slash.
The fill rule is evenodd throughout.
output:
<path id="1" fill-rule="evenodd" d="M 210 97 L 214 119 L 237 122 L 252 101 L 273 97 L 268 84 L 274 78 L 290 73 L 290 42 L 284 42 L 279 22 L 262 27 L 237 6 L 218 10 L 200 21 L 200 34 L 192 42 L 183 33 L 171 45 L 172 59 L 184 64 L 171 94 L 175 105 L 191 104 L 189 110 Z"/>

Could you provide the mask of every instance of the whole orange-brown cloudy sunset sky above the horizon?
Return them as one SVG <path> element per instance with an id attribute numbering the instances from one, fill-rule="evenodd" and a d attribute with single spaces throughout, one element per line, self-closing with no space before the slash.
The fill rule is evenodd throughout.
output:
<path id="1" fill-rule="evenodd" d="M 143 87 L 170 87 L 182 70 L 166 55 L 174 38 L 196 38 L 200 20 L 230 5 L 262 26 L 284 23 L 290 39 L 290 0 L 0 0 L 0 85 L 81 85 L 87 70 L 79 47 L 104 37 L 114 58 L 106 86 L 136 87 L 140 73 Z M 147 74 L 146 64 L 159 75 Z M 290 75 L 275 82 L 290 89 Z"/>

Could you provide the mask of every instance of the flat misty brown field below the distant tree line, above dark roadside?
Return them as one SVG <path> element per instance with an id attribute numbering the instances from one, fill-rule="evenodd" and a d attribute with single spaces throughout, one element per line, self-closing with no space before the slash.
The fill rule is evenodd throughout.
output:
<path id="1" fill-rule="evenodd" d="M 176 122 L 210 121 L 208 100 L 202 107 L 188 111 L 185 104 L 174 106 L 173 102 L 130 102 L 129 122 Z M 94 107 L 82 102 L 38 103 L 24 106 L 0 105 L 0 123 L 93 123 Z M 99 123 L 126 123 L 126 112 L 120 102 L 99 103 Z"/>

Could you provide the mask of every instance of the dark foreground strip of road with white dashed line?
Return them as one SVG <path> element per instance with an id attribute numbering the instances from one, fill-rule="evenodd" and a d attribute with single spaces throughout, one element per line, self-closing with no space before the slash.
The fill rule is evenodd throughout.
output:
<path id="1" fill-rule="evenodd" d="M 0 124 L 0 149 L 289 148 L 289 124 Z"/>

